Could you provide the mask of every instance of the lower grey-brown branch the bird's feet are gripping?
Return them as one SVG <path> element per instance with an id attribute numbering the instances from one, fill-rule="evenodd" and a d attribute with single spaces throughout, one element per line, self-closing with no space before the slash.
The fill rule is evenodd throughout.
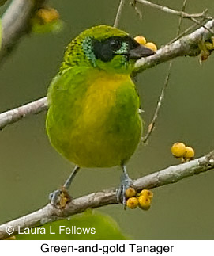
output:
<path id="1" fill-rule="evenodd" d="M 169 166 L 164 170 L 138 178 L 133 181 L 133 187 L 137 191 L 140 191 L 141 189 L 152 189 L 162 185 L 175 183 L 195 174 L 200 174 L 201 172 L 211 170 L 213 167 L 214 151 L 199 159 L 194 159 L 177 166 Z M 24 230 L 26 227 L 38 227 L 53 222 L 54 220 L 60 220 L 84 212 L 87 208 L 99 208 L 108 204 L 118 204 L 116 189 L 105 189 L 83 197 L 78 197 L 67 204 L 64 209 L 54 208 L 51 204 L 47 204 L 36 212 L 32 212 L 26 216 L 0 225 L 0 239 L 9 237 L 9 234 L 6 233 L 6 227 L 9 226 L 14 228 L 13 234 L 10 235 L 16 235 L 18 233 L 18 228 Z"/>

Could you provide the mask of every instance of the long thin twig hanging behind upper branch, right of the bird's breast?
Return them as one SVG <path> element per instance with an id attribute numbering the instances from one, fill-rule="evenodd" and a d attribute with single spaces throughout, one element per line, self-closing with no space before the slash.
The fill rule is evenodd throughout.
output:
<path id="1" fill-rule="evenodd" d="M 184 0 L 183 4 L 182 4 L 182 12 L 185 10 L 185 7 L 186 7 L 186 0 Z M 182 20 L 183 20 L 183 17 L 181 16 L 179 18 L 178 29 L 177 29 L 177 32 L 176 32 L 176 36 L 178 36 L 179 33 L 180 33 L 181 26 L 182 26 Z M 165 92 L 167 90 L 167 85 L 168 85 L 169 78 L 170 78 L 170 75 L 171 75 L 172 63 L 173 63 L 173 60 L 171 60 L 170 63 L 169 63 L 169 67 L 168 67 L 167 75 L 166 75 L 166 78 L 165 78 L 165 82 L 163 84 L 163 88 L 160 92 L 159 101 L 158 101 L 157 106 L 156 106 L 156 111 L 155 111 L 154 116 L 152 118 L 152 122 L 148 125 L 148 132 L 146 133 L 145 137 L 142 138 L 143 143 L 146 143 L 146 141 L 148 140 L 149 136 L 151 136 L 152 131 L 155 128 L 156 120 L 157 120 L 158 114 L 160 112 L 161 105 L 163 104 L 163 100 L 164 100 L 164 97 L 165 97 Z"/>

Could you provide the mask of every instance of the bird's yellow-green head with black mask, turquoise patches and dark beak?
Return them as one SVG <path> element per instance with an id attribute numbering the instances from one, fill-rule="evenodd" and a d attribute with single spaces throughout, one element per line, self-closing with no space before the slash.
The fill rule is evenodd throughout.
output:
<path id="1" fill-rule="evenodd" d="M 112 73 L 130 74 L 137 59 L 154 53 L 126 32 L 98 25 L 84 30 L 71 41 L 62 68 L 86 64 Z"/>

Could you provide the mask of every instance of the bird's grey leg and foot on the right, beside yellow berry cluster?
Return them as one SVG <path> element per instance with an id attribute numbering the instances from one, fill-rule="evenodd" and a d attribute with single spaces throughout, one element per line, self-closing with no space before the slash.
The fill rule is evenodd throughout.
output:
<path id="1" fill-rule="evenodd" d="M 133 183 L 126 171 L 126 166 L 122 165 L 122 176 L 119 188 L 117 189 L 117 200 L 126 206 L 126 189 Z"/>

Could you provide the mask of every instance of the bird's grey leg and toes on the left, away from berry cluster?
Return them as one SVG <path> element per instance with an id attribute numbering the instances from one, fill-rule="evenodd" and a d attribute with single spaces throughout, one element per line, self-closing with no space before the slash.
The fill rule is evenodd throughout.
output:
<path id="1" fill-rule="evenodd" d="M 75 166 L 73 169 L 73 172 L 69 175 L 69 178 L 67 178 L 64 185 L 62 185 L 62 189 L 57 189 L 54 192 L 50 193 L 49 198 L 51 200 L 52 205 L 56 205 L 57 201 L 58 201 L 58 196 L 62 192 L 65 193 L 67 191 L 67 189 L 69 189 L 69 185 L 71 184 L 71 182 L 73 181 L 73 178 L 76 176 L 78 170 L 80 170 L 80 169 L 81 169 L 80 166 Z M 67 195 L 68 195 L 68 193 L 67 193 Z"/>

